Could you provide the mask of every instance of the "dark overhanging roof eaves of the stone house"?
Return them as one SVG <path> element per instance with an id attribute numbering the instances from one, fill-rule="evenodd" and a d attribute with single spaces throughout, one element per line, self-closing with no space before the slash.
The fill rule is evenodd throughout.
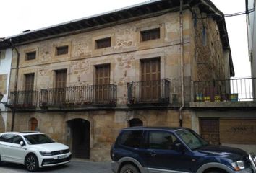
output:
<path id="1" fill-rule="evenodd" d="M 184 9 L 192 6 L 199 6 L 200 11 L 208 15 L 223 16 L 223 13 L 216 8 L 210 0 L 183 0 Z M 81 19 L 64 22 L 59 25 L 50 27 L 43 27 L 38 30 L 27 30 L 19 35 L 4 38 L 0 41 L 0 50 L 11 48 L 14 45 L 23 45 L 26 43 L 33 43 L 39 40 L 45 40 L 53 37 L 61 37 L 64 35 L 72 35 L 75 33 L 95 30 L 102 27 L 109 27 L 112 25 L 119 25 L 124 22 L 131 22 L 135 19 L 145 17 L 153 17 L 166 12 L 179 11 L 179 1 L 177 0 L 151 0 L 144 3 L 127 6 L 126 8 L 116 9 L 111 12 L 84 17 Z M 231 59 L 231 51 L 229 48 L 229 37 L 226 30 L 226 22 L 223 17 L 216 18 L 216 22 L 221 35 L 221 41 L 224 49 L 229 50 L 231 76 L 234 74 L 233 63 Z M 12 43 L 10 42 L 12 40 Z"/>

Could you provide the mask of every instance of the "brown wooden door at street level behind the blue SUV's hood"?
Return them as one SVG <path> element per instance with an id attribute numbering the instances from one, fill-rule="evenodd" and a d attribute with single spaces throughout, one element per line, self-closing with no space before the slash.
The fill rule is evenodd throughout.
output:
<path id="1" fill-rule="evenodd" d="M 211 118 L 200 119 L 201 136 L 210 144 L 220 144 L 219 120 Z"/>

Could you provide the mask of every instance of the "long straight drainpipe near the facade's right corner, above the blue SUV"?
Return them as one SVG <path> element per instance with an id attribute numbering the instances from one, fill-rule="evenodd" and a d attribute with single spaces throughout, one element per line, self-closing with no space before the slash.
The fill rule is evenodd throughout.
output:
<path id="1" fill-rule="evenodd" d="M 179 7 L 179 30 L 180 30 L 180 54 L 181 54 L 181 84 L 182 84 L 182 106 L 179 107 L 179 126 L 182 127 L 182 110 L 184 108 L 184 64 L 183 64 L 183 23 L 182 23 L 182 5 L 183 0 L 180 0 Z"/>

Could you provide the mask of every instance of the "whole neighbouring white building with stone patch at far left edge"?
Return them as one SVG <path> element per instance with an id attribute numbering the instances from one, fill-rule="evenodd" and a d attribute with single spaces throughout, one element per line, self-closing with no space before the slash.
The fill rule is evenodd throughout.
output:
<path id="1" fill-rule="evenodd" d="M 8 102 L 9 94 L 9 79 L 12 64 L 12 49 L 0 50 L 0 92 L 4 97 L 0 100 L 0 133 L 7 128 L 7 107 L 5 103 Z"/>

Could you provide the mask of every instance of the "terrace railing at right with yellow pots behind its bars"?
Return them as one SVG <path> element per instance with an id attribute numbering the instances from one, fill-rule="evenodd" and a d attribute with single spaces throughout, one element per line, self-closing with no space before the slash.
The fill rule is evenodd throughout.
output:
<path id="1" fill-rule="evenodd" d="M 252 101 L 256 99 L 256 78 L 194 82 L 195 102 Z"/>

